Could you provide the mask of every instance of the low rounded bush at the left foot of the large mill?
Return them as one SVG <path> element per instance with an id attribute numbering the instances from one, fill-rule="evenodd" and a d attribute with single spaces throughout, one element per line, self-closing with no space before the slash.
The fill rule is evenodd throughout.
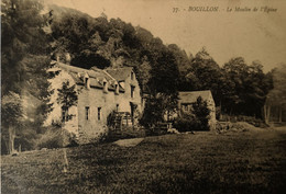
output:
<path id="1" fill-rule="evenodd" d="M 63 148 L 70 145 L 76 145 L 74 134 L 59 127 L 51 127 L 36 141 L 36 148 Z"/>

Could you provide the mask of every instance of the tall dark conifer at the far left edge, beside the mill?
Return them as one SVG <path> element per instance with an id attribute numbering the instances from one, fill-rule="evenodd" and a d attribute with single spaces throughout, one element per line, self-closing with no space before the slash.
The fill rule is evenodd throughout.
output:
<path id="1" fill-rule="evenodd" d="M 43 5 L 40 1 L 34 0 L 3 0 L 1 2 L 1 98 L 8 98 L 15 93 L 20 99 L 24 96 L 36 98 L 41 101 L 41 107 L 37 106 L 37 114 L 26 115 L 25 117 L 18 114 L 9 114 L 6 110 L 15 110 L 13 103 L 1 102 L 6 110 L 2 110 L 3 133 L 11 133 L 8 139 L 14 144 L 13 134 L 22 138 L 25 127 L 16 127 L 20 123 L 26 123 L 30 118 L 34 123 L 41 124 L 51 107 L 47 104 L 50 98 L 48 81 L 50 75 L 46 69 L 51 67 L 48 55 L 48 35 L 44 27 L 47 25 L 47 16 L 41 14 Z M 3 104 L 6 103 L 6 104 Z M 11 107 L 8 107 L 10 106 Z M 23 112 L 26 112 L 21 105 Z M 9 114 L 9 116 L 6 116 Z M 41 121 L 37 117 L 41 115 Z M 18 119 L 23 117 L 23 119 Z M 19 122 L 13 122 L 19 121 Z M 31 122 L 30 122 L 31 123 Z M 14 147 L 14 146 L 11 146 Z M 10 149 L 12 151 L 12 149 Z"/>

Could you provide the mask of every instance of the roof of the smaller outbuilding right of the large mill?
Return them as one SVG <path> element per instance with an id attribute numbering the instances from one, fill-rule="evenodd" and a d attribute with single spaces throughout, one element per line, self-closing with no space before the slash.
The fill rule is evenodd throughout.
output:
<path id="1" fill-rule="evenodd" d="M 180 103 L 195 103 L 198 96 L 201 96 L 202 100 L 208 100 L 209 98 L 212 98 L 210 90 L 178 92 L 178 96 Z"/>

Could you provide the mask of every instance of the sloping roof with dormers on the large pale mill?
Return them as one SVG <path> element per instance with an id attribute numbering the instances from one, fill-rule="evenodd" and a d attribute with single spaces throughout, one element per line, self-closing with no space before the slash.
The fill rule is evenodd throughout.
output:
<path id="1" fill-rule="evenodd" d="M 96 67 L 92 67 L 91 69 L 84 69 L 58 61 L 55 62 L 55 65 L 59 69 L 67 71 L 77 84 L 85 84 L 84 78 L 86 75 L 88 75 L 91 88 L 103 88 L 103 82 L 108 81 L 108 89 L 116 90 L 116 84 L 118 83 L 118 81 L 101 69 L 98 69 Z M 118 85 L 120 87 L 120 84 Z M 124 89 L 120 87 L 119 91 L 124 92 Z"/>

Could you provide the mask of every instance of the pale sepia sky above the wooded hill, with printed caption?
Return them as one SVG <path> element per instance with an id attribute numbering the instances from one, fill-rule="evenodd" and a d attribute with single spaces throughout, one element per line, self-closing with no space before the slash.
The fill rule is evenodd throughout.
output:
<path id="1" fill-rule="evenodd" d="M 177 44 L 196 55 L 206 47 L 223 66 L 232 57 L 248 64 L 260 60 L 264 71 L 286 64 L 285 0 L 45 0 L 97 18 L 120 18 L 148 30 L 164 44 Z M 218 7 L 218 12 L 188 11 L 189 7 Z M 262 7 L 276 9 L 265 12 Z M 178 12 L 174 12 L 178 8 Z M 251 9 L 250 12 L 234 11 Z M 257 8 L 254 12 L 253 9 Z M 184 11 L 185 9 L 185 11 Z M 231 12 L 227 10 L 232 9 Z"/>

